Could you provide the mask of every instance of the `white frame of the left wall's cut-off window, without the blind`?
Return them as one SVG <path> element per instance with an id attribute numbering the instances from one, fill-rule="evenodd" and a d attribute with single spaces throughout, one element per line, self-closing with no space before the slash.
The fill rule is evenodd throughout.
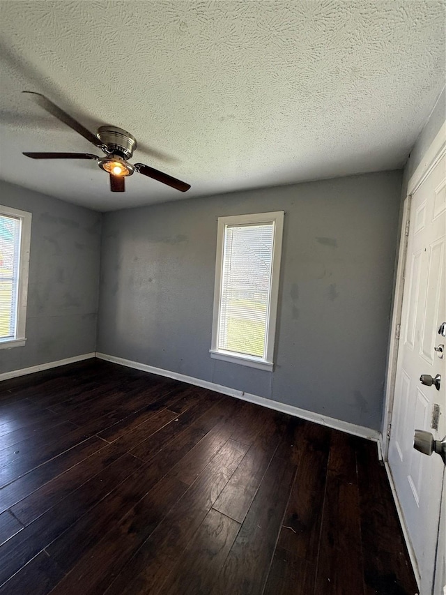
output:
<path id="1" fill-rule="evenodd" d="M 26 343 L 26 305 L 28 302 L 32 213 L 0 204 L 0 215 L 20 219 L 22 223 L 20 226 L 19 280 L 17 287 L 17 322 L 15 337 L 13 339 L 8 337 L 0 338 L 0 349 L 11 349 L 12 347 L 23 347 Z"/>

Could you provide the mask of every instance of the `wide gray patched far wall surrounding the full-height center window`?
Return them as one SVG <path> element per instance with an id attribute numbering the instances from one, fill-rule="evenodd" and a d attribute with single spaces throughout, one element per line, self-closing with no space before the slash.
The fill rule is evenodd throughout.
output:
<path id="1" fill-rule="evenodd" d="M 98 352 L 379 429 L 401 172 L 107 213 Z M 286 211 L 274 372 L 210 359 L 217 217 Z"/>

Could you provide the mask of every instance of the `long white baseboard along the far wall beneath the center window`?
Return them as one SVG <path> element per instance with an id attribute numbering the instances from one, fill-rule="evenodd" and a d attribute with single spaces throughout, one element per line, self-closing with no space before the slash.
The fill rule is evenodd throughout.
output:
<path id="1" fill-rule="evenodd" d="M 236 397 L 238 399 L 254 403 L 255 405 L 268 407 L 268 409 L 275 409 L 275 411 L 299 417 L 300 419 L 306 419 L 307 421 L 313 421 L 314 423 L 318 423 L 320 425 L 326 425 L 328 428 L 341 430 L 341 432 L 346 432 L 348 434 L 352 434 L 353 436 L 367 438 L 368 440 L 377 442 L 378 446 L 380 445 L 380 432 L 378 432 L 378 430 L 365 428 L 362 425 L 355 425 L 354 423 L 348 423 L 348 421 L 334 419 L 333 417 L 307 411 L 307 409 L 300 409 L 300 407 L 293 407 L 293 405 L 286 405 L 286 403 L 266 399 L 264 397 L 245 393 L 244 391 L 238 391 L 237 389 L 230 389 L 228 386 L 222 386 L 221 384 L 215 384 L 214 382 L 208 382 L 207 380 L 186 376 L 184 374 L 179 374 L 178 372 L 171 372 L 170 370 L 163 370 L 162 368 L 148 366 L 146 363 L 139 363 L 137 361 L 131 361 L 130 359 L 123 359 L 122 357 L 116 357 L 98 352 L 96 353 L 96 357 L 99 359 L 112 361 L 113 363 L 118 363 L 121 366 L 134 368 L 135 370 L 143 370 L 144 372 L 151 372 L 151 374 L 157 374 L 158 376 L 165 376 L 167 378 L 180 380 L 181 382 L 187 382 L 187 384 L 193 384 L 194 386 L 201 386 L 203 389 L 209 389 L 210 391 L 222 393 L 230 397 Z"/>

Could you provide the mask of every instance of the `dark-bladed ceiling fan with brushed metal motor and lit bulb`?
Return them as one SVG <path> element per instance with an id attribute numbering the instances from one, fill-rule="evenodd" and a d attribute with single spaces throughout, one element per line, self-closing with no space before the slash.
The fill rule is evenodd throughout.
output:
<path id="1" fill-rule="evenodd" d="M 96 160 L 101 170 L 109 174 L 110 190 L 112 192 L 125 192 L 125 177 L 131 176 L 133 172 L 143 174 L 143 176 L 167 184 L 167 186 L 176 188 L 176 190 L 180 190 L 181 192 L 189 190 L 190 184 L 155 170 L 153 167 L 144 165 L 144 163 L 128 163 L 128 159 L 132 158 L 133 151 L 137 148 L 137 140 L 127 130 L 123 130 L 117 126 L 100 126 L 98 133 L 93 135 L 90 130 L 87 130 L 81 123 L 72 118 L 72 116 L 61 110 L 60 107 L 52 103 L 42 93 L 35 93 L 34 91 L 22 91 L 22 93 L 29 93 L 40 107 L 43 107 L 49 114 L 66 123 L 67 126 L 70 126 L 79 135 L 82 135 L 91 144 L 94 144 L 105 153 L 105 157 L 100 157 L 93 153 L 23 153 L 26 157 L 31 157 L 31 159 Z"/>

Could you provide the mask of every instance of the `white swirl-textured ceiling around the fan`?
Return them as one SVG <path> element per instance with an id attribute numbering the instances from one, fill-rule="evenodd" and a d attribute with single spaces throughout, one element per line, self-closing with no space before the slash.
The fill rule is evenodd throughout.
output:
<path id="1" fill-rule="evenodd" d="M 0 54 L 1 178 L 107 211 L 401 167 L 445 82 L 445 2 L 1 0 Z M 23 89 L 192 189 L 22 156 L 95 152 Z"/>

